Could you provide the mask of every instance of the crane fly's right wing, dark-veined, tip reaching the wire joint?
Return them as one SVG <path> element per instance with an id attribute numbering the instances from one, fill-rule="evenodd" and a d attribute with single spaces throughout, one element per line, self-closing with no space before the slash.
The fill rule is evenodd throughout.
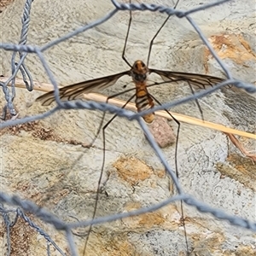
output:
<path id="1" fill-rule="evenodd" d="M 156 73 L 160 75 L 160 77 L 166 82 L 186 81 L 189 84 L 195 85 L 195 87 L 199 89 L 206 89 L 207 86 L 219 84 L 224 81 L 224 79 L 198 73 L 172 72 L 158 69 L 149 69 L 149 73 Z"/>

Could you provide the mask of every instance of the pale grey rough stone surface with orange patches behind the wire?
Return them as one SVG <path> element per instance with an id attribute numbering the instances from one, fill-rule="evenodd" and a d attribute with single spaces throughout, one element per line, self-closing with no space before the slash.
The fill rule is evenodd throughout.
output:
<path id="1" fill-rule="evenodd" d="M 158 3 L 169 4 L 169 1 Z M 190 9 L 199 3 L 207 1 L 181 1 L 180 9 Z M 23 6 L 24 1 L 17 0 L 3 10 L 1 18 L 4 29 L 1 41 L 18 42 Z M 80 1 L 73 0 L 61 1 L 60 4 L 57 1 L 37 0 L 32 3 L 28 42 L 47 44 L 102 17 L 111 9 L 113 6 L 110 1 L 84 1 L 81 4 Z M 133 17 L 131 37 L 125 54 L 131 62 L 147 59 L 149 41 L 166 15 L 136 12 Z M 229 34 L 227 38 L 220 37 L 219 40 L 212 38 L 212 44 L 235 77 L 253 83 L 256 80 L 253 51 L 255 3 L 233 1 L 193 14 L 192 17 L 207 37 Z M 61 85 L 72 84 L 128 69 L 121 59 L 128 18 L 128 12 L 119 12 L 101 26 L 45 52 L 45 58 L 57 82 Z M 230 43 L 227 43 L 228 39 Z M 245 41 L 249 48 L 245 46 Z M 232 52 L 237 55 L 232 55 Z M 10 56 L 11 52 L 0 50 L 3 60 L 0 73 L 5 76 L 10 74 Z M 241 56 L 247 58 L 241 61 Z M 26 65 L 33 79 L 49 82 L 37 56 L 29 55 Z M 208 71 L 208 74 L 223 75 L 221 68 L 208 55 L 207 49 L 188 21 L 176 18 L 169 20 L 156 39 L 149 67 L 191 73 Z M 105 92 L 112 94 L 120 91 L 125 81 L 120 79 Z M 160 102 L 171 102 L 189 94 L 189 89 L 174 85 L 152 88 L 150 91 Z M 43 113 L 47 109 L 32 104 L 37 96 L 39 93 L 36 91 L 29 93 L 26 90 L 17 90 L 15 108 L 21 117 Z M 3 94 L 1 106 L 2 103 Z M 206 120 L 245 131 L 255 131 L 255 98 L 246 93 L 237 93 L 236 90 L 218 91 L 202 99 L 201 108 Z M 172 111 L 200 118 L 195 103 L 188 103 Z M 79 219 L 91 218 L 102 167 L 102 135 L 96 140 L 94 147 L 89 149 L 60 141 L 90 143 L 101 117 L 102 113 L 95 111 L 61 111 L 48 119 L 40 120 L 38 126 L 32 127 L 32 131 L 24 131 L 22 127 L 20 133 L 12 130 L 16 135 L 4 131 L 1 136 L 1 189 L 35 201 L 67 221 L 74 220 L 70 216 Z M 107 119 L 110 118 L 111 115 L 107 114 Z M 169 124 L 177 131 L 176 124 Z M 50 134 L 53 141 L 35 138 L 33 131 Z M 249 149 L 255 150 L 255 143 L 247 140 L 243 143 Z M 170 196 L 168 178 L 160 160 L 148 145 L 136 122 L 115 119 L 107 130 L 106 148 L 97 216 L 150 206 Z M 163 149 L 171 166 L 174 166 L 174 151 L 174 145 Z M 255 220 L 255 186 L 249 185 L 244 176 L 248 176 L 249 172 L 250 179 L 255 181 L 256 168 L 230 145 L 224 134 L 182 125 L 177 155 L 180 182 L 187 193 L 212 207 Z M 229 172 L 230 169 L 235 171 Z M 159 212 L 148 212 L 136 218 L 96 226 L 90 235 L 86 255 L 185 255 L 183 227 L 177 208 L 179 204 L 170 205 Z M 252 232 L 218 221 L 197 212 L 195 208 L 184 206 L 184 209 L 190 253 L 253 255 L 255 252 L 255 235 Z M 36 218 L 33 219 L 68 254 L 67 242 L 63 236 L 51 227 L 41 224 Z M 17 226 L 17 229 L 20 227 L 22 225 Z M 31 230 L 24 232 L 29 234 Z M 32 232 L 32 242 L 27 243 L 26 251 L 29 255 L 35 252 L 45 254 L 44 239 L 35 231 Z M 13 234 L 12 238 L 17 240 L 19 236 Z M 81 254 L 84 238 L 75 239 Z M 19 252 L 19 243 L 15 247 Z"/>

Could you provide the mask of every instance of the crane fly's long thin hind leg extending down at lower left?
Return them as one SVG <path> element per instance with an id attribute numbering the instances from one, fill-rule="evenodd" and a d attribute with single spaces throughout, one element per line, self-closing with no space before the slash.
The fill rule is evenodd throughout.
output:
<path id="1" fill-rule="evenodd" d="M 131 90 L 134 90 L 134 89 L 131 89 Z M 130 91 L 130 90 L 125 90 L 125 92 L 127 91 Z M 115 97 L 115 96 L 118 96 L 120 94 L 123 94 L 123 92 L 120 92 L 116 95 L 113 95 L 113 96 L 109 96 L 108 99 L 107 99 L 107 102 L 108 103 L 108 100 Z M 134 94 L 133 96 L 131 96 L 129 98 L 129 100 L 127 102 L 125 102 L 125 105 L 122 107 L 122 108 L 125 108 L 125 106 L 131 102 L 131 100 L 136 96 L 136 94 Z M 110 125 L 110 123 L 113 121 L 113 119 L 115 119 L 117 117 L 117 113 L 113 116 L 112 119 L 110 119 L 108 121 L 108 123 L 106 125 L 103 126 L 102 128 L 102 135 L 103 135 L 103 160 L 102 160 L 102 168 L 101 168 L 101 174 L 100 174 L 100 177 L 99 177 L 99 180 L 98 180 L 98 185 L 97 185 L 97 191 L 96 191 L 96 202 L 95 202 L 95 205 L 94 205 L 94 212 L 92 214 L 92 219 L 94 219 L 96 217 L 96 210 L 97 210 L 97 205 L 98 205 L 98 200 L 99 200 L 99 195 L 100 195 L 100 186 L 101 186 L 101 183 L 102 183 L 102 175 L 103 175 L 103 170 L 104 170 L 104 166 L 105 166 L 105 159 L 106 159 L 106 154 L 105 154 L 105 150 L 106 150 L 106 140 L 105 140 L 105 130 L 108 128 L 108 125 Z M 104 113 L 104 116 L 105 116 L 105 113 Z M 85 252 L 86 252 L 86 247 L 87 247 L 87 244 L 88 244 L 88 241 L 89 241 L 89 236 L 90 236 L 90 231 L 92 230 L 92 225 L 90 225 L 89 227 L 89 230 L 88 230 L 88 235 L 86 236 L 85 238 L 85 242 L 84 242 L 84 251 L 83 251 L 83 255 L 85 255 Z"/>

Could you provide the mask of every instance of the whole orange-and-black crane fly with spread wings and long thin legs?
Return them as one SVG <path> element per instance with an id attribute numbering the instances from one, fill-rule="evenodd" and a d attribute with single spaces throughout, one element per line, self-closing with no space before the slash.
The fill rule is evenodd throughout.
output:
<path id="1" fill-rule="evenodd" d="M 130 1 L 131 3 L 131 1 Z M 177 1 L 178 3 L 178 1 Z M 177 3 L 174 7 L 174 9 L 177 7 Z M 125 102 L 125 105 L 122 108 L 125 108 L 126 104 L 128 102 L 131 102 L 133 98 L 135 98 L 135 103 L 137 107 L 137 111 L 141 112 L 144 110 L 148 110 L 150 108 L 154 108 L 154 102 L 157 102 L 160 104 L 160 102 L 148 92 L 148 88 L 154 85 L 160 85 L 160 84 L 167 84 L 167 83 L 178 83 L 178 82 L 186 82 L 189 84 L 190 90 L 192 93 L 194 93 L 194 90 L 192 89 L 192 85 L 194 87 L 197 87 L 198 89 L 206 89 L 207 86 L 213 86 L 214 84 L 218 84 L 224 81 L 224 79 L 216 78 L 213 76 L 205 75 L 205 74 L 198 74 L 198 73 L 183 73 L 183 72 L 174 72 L 174 71 L 166 71 L 166 70 L 159 70 L 159 69 L 153 69 L 148 67 L 149 63 L 149 57 L 151 53 L 152 46 L 154 44 L 154 39 L 157 37 L 163 26 L 165 26 L 167 20 L 171 15 L 169 15 L 162 26 L 160 26 L 160 29 L 155 33 L 154 38 L 152 38 L 150 45 L 149 45 L 149 51 L 148 51 L 148 61 L 147 65 L 141 61 L 137 60 L 134 62 L 134 64 L 131 66 L 129 61 L 126 60 L 125 58 L 125 49 L 126 49 L 126 44 L 130 32 L 130 27 L 131 27 L 131 11 L 130 11 L 130 20 L 128 24 L 128 30 L 126 32 L 126 37 L 125 37 L 125 45 L 123 49 L 123 54 L 122 54 L 122 59 L 126 62 L 126 64 L 130 67 L 129 70 L 122 72 L 122 73 L 115 73 L 113 75 L 105 76 L 102 78 L 98 79 L 90 79 L 87 81 L 80 82 L 78 84 L 71 84 L 67 85 L 65 87 L 62 87 L 59 90 L 59 96 L 62 101 L 73 101 L 79 99 L 80 96 L 82 96 L 84 93 L 90 93 L 90 92 L 99 92 L 101 90 L 104 90 L 108 88 L 109 86 L 112 86 L 115 84 L 121 77 L 123 76 L 130 76 L 132 79 L 132 82 L 135 84 L 135 88 L 131 90 L 136 90 L 136 92 L 133 94 L 133 96 L 130 97 L 130 99 Z M 148 84 L 148 76 L 151 73 L 155 73 L 160 76 L 160 78 L 163 80 L 161 83 L 154 83 L 154 84 Z M 119 96 L 120 94 L 123 94 L 125 92 L 131 91 L 131 90 L 125 90 L 122 91 L 121 93 L 117 93 L 113 96 Z M 113 96 L 108 96 L 107 102 L 110 98 Z M 55 102 L 55 96 L 54 96 L 54 91 L 50 91 L 43 96 L 39 96 L 37 99 L 38 102 L 41 102 L 43 106 L 49 106 L 52 102 Z M 197 106 L 200 108 L 199 103 L 197 100 L 195 100 L 197 103 Z M 165 109 L 166 110 L 166 109 Z M 201 111 L 201 108 L 200 108 Z M 172 116 L 172 113 L 169 113 L 167 110 L 166 112 L 174 119 L 174 121 L 177 122 L 177 141 L 178 141 L 178 133 L 179 133 L 179 122 L 177 119 L 175 119 Z M 202 113 L 201 113 L 202 115 Z M 113 119 L 116 117 L 116 114 L 113 116 L 112 119 L 108 121 L 106 125 L 102 127 L 103 124 L 103 119 L 105 117 L 105 112 L 103 113 L 102 117 L 102 122 L 101 125 L 99 126 L 99 129 L 96 133 L 96 137 L 98 136 L 100 130 L 102 129 L 102 134 L 103 134 L 103 160 L 102 160 L 102 170 L 101 174 L 98 180 L 98 187 L 96 191 L 96 203 L 94 206 L 94 212 L 92 219 L 96 217 L 96 209 L 97 209 L 97 202 L 99 200 L 99 194 L 100 194 L 100 184 L 102 182 L 102 172 L 103 168 L 105 165 L 105 130 L 108 127 L 108 125 L 113 121 Z M 154 121 L 154 113 L 148 113 L 143 115 L 143 119 L 145 122 L 148 124 L 152 123 Z M 93 142 L 96 140 L 96 137 L 94 138 Z M 91 143 L 92 144 L 92 143 Z M 178 172 L 177 172 L 177 143 L 176 143 L 176 150 L 175 150 L 175 166 L 176 166 L 176 174 L 178 177 Z M 187 253 L 189 253 L 189 245 L 187 241 L 187 235 L 186 235 L 186 230 L 185 230 L 185 222 L 183 218 L 183 204 L 181 201 L 181 221 L 183 224 L 183 229 L 184 229 L 184 235 L 185 235 L 185 242 L 186 242 L 186 247 L 187 247 Z M 90 231 L 92 230 L 92 225 L 90 225 L 89 230 L 87 232 L 87 236 L 85 239 L 85 244 L 84 244 L 84 253 L 86 250 L 87 242 L 89 240 L 90 236 Z"/>

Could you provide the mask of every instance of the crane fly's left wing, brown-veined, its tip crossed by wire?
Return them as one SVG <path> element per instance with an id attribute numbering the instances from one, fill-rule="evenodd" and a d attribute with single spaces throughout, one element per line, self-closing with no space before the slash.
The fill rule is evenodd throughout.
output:
<path id="1" fill-rule="evenodd" d="M 78 84 L 71 84 L 60 88 L 59 95 L 62 101 L 73 101 L 79 98 L 84 93 L 96 92 L 103 90 L 117 82 L 117 80 L 124 76 L 130 75 L 130 71 L 122 73 L 116 73 L 114 75 L 103 77 L 99 79 L 92 79 Z M 52 102 L 55 102 L 54 90 L 39 96 L 36 100 L 42 102 L 43 106 L 49 106 Z"/>

